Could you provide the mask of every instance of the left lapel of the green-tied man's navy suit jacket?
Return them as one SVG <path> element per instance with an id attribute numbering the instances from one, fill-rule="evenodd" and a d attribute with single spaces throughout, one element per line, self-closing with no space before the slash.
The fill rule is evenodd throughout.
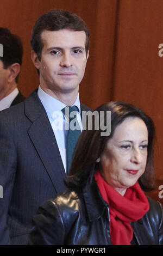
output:
<path id="1" fill-rule="evenodd" d="M 45 166 L 56 192 L 61 192 L 65 190 L 63 182 L 65 178 L 64 165 L 51 124 L 36 91 L 24 101 L 24 105 L 26 116 L 32 121 L 28 135 Z"/>

